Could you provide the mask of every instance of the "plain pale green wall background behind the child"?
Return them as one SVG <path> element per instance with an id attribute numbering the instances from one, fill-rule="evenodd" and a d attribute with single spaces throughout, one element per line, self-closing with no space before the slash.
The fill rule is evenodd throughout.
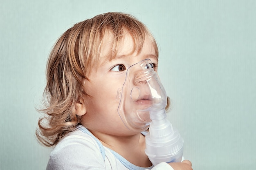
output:
<path id="1" fill-rule="evenodd" d="M 194 170 L 256 170 L 255 0 L 0 0 L 0 170 L 44 170 L 35 107 L 56 39 L 108 11 L 135 15 L 159 44 L 159 75 Z"/>

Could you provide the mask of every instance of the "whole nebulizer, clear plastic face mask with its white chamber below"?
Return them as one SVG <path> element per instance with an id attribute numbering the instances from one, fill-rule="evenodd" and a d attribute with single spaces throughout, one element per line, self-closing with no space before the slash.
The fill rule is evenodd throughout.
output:
<path id="1" fill-rule="evenodd" d="M 149 127 L 145 152 L 153 165 L 180 162 L 183 139 L 166 118 L 166 92 L 150 59 L 127 69 L 117 98 L 120 99 L 119 116 L 128 129 L 142 132 Z"/>

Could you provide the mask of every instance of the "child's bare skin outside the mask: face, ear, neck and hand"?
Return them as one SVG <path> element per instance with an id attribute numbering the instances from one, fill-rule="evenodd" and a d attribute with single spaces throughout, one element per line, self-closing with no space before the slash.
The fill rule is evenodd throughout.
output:
<path id="1" fill-rule="evenodd" d="M 152 163 L 144 152 L 145 137 L 139 132 L 132 132 L 126 128 L 117 112 L 119 99 L 116 96 L 117 90 L 124 84 L 126 69 L 129 66 L 149 58 L 157 71 L 158 60 L 155 49 L 150 40 L 146 38 L 141 52 L 131 53 L 133 40 L 127 34 L 119 47 L 117 57 L 109 61 L 106 60 L 106 56 L 112 47 L 111 41 L 111 35 L 107 35 L 103 39 L 101 63 L 99 67 L 92 70 L 88 79 L 85 80 L 84 87 L 88 95 L 85 95 L 76 104 L 76 113 L 82 116 L 81 124 L 88 128 L 103 146 L 119 153 L 136 166 L 150 167 Z M 184 170 L 189 167 L 187 162 L 170 163 L 170 165 L 172 164 L 176 165 L 177 170 L 180 167 Z"/>

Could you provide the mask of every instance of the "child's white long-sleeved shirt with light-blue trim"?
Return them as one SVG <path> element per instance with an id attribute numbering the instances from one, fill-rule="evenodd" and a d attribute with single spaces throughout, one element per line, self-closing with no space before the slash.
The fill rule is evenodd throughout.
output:
<path id="1" fill-rule="evenodd" d="M 50 153 L 47 170 L 173 170 L 167 163 L 135 166 L 117 152 L 103 146 L 83 126 L 63 137 Z"/>

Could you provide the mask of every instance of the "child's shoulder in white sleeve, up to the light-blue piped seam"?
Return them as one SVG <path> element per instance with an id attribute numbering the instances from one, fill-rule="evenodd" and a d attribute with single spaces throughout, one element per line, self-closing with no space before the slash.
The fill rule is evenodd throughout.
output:
<path id="1" fill-rule="evenodd" d="M 83 130 L 79 127 L 61 139 L 50 153 L 47 170 L 104 168 L 105 153 L 89 131 Z"/>

